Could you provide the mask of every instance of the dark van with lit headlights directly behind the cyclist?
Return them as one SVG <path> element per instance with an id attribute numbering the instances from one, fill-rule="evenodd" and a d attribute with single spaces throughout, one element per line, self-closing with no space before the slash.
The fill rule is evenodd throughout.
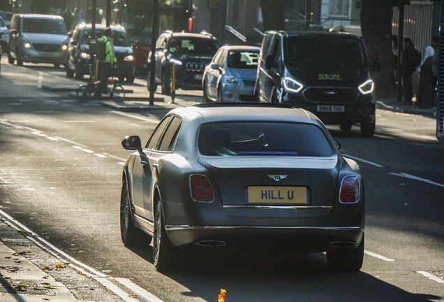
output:
<path id="1" fill-rule="evenodd" d="M 117 68 L 113 70 L 113 75 L 120 81 L 134 82 L 135 64 L 133 48 L 128 41 L 128 35 L 124 27 L 111 25 L 114 43 L 114 52 L 117 57 Z M 96 24 L 96 37 L 103 36 L 104 24 Z M 73 36 L 68 44 L 68 64 L 66 66 L 66 76 L 68 78 L 82 79 L 85 74 L 89 74 L 89 41 L 91 40 L 91 24 L 77 24 L 73 31 Z"/>

